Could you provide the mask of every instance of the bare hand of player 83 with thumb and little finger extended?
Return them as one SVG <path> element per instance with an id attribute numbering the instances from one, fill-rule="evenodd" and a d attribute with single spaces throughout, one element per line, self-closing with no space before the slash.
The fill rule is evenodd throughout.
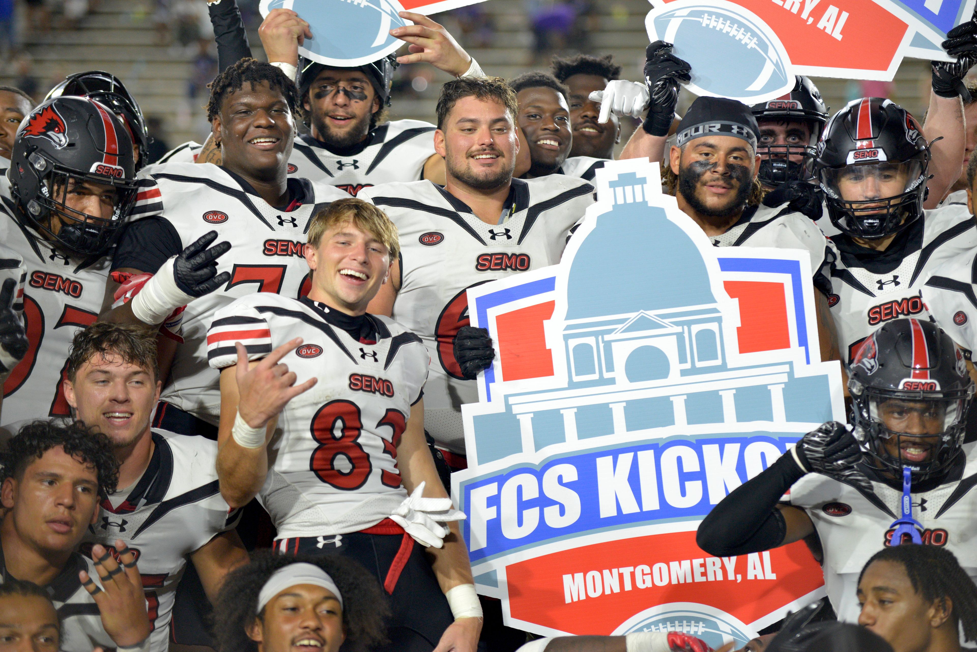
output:
<path id="1" fill-rule="evenodd" d="M 248 426 L 265 427 L 284 410 L 289 401 L 319 382 L 319 378 L 310 378 L 301 385 L 296 385 L 298 376 L 295 372 L 289 371 L 287 365 L 278 363 L 301 344 L 301 337 L 285 342 L 254 368 L 248 369 L 247 349 L 240 342 L 234 342 L 237 349 L 236 377 L 239 396 L 237 413 Z"/>

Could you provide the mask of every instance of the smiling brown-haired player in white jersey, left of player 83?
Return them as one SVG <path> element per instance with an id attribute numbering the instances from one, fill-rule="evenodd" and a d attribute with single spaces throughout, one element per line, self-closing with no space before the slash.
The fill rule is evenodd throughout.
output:
<path id="1" fill-rule="evenodd" d="M 156 337 L 140 326 L 103 322 L 74 337 L 64 396 L 79 421 L 96 426 L 119 462 L 118 489 L 101 502 L 82 551 L 121 540 L 139 557 L 149 602 L 150 652 L 169 646 L 174 595 L 188 559 L 214 599 L 224 576 L 247 563 L 234 526 L 239 511 L 221 498 L 217 444 L 150 429 L 159 398 Z"/>

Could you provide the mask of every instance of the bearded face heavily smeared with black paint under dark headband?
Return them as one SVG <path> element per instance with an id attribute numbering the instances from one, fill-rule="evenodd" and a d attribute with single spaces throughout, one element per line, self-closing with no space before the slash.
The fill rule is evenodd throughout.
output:
<path id="1" fill-rule="evenodd" d="M 673 147 L 671 169 L 678 193 L 705 217 L 730 217 L 743 211 L 756 177 L 759 156 L 734 136 L 708 136 Z"/>

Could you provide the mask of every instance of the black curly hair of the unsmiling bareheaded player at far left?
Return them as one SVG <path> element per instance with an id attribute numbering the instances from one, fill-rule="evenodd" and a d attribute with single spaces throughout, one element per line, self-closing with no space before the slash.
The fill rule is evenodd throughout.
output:
<path id="1" fill-rule="evenodd" d="M 7 442 L 0 452 L 0 482 L 7 478 L 21 480 L 23 472 L 34 460 L 56 447 L 62 447 L 66 455 L 95 469 L 99 481 L 99 497 L 107 498 L 115 493 L 119 479 L 119 463 L 115 459 L 112 443 L 98 430 L 81 421 L 66 424 L 54 421 L 32 421 Z"/>

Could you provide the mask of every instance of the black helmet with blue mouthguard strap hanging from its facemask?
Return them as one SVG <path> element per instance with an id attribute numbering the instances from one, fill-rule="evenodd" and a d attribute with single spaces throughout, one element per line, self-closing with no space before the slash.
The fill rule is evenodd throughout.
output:
<path id="1" fill-rule="evenodd" d="M 897 477 L 905 466 L 913 482 L 938 476 L 963 454 L 974 383 L 950 335 L 932 322 L 899 319 L 875 330 L 853 357 L 848 390 L 855 436 Z M 897 456 L 886 447 L 893 443 Z"/>

